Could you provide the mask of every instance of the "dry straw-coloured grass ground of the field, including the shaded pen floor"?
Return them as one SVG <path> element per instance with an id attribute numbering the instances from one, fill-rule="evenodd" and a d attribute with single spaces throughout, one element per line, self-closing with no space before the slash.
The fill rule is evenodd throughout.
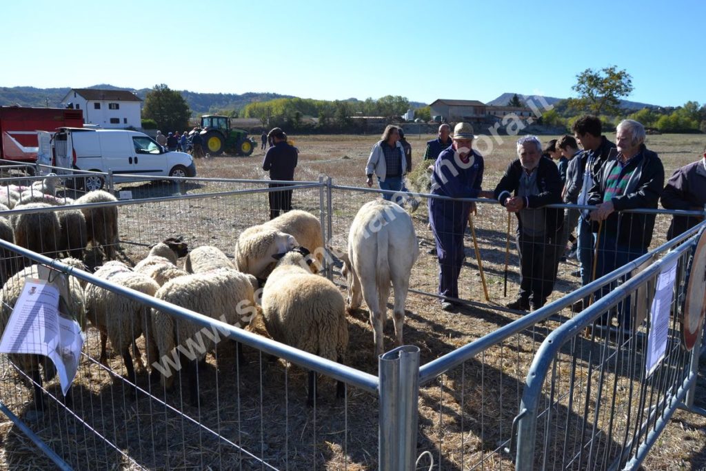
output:
<path id="1" fill-rule="evenodd" d="M 424 143 L 434 136 L 408 135 L 413 148 L 412 184 L 420 181 L 424 189 L 421 157 Z M 546 142 L 555 136 L 542 136 Z M 614 136 L 609 135 L 609 138 Z M 370 148 L 378 136 L 291 136 L 300 150 L 295 177 L 301 181 L 316 181 L 320 176 L 331 177 L 335 185 L 364 186 L 364 166 Z M 486 162 L 484 189 L 492 189 L 506 165 L 515 158 L 515 138 L 500 136 L 492 148 L 481 147 Z M 486 143 L 489 141 L 486 141 Z M 666 175 L 674 169 L 696 160 L 706 144 L 706 136 L 648 136 L 647 145 L 662 157 Z M 251 157 L 216 157 L 196 162 L 198 177 L 228 179 L 266 179 L 261 169 L 264 153 L 256 150 Z M 169 193 L 160 184 L 128 184 L 141 194 Z M 188 193 L 213 191 L 215 185 L 186 185 Z M 226 189 L 227 185 L 218 186 Z M 244 186 L 228 187 L 242 189 Z M 412 186 L 412 189 L 415 189 Z M 160 193 L 160 191 L 162 193 Z M 331 242 L 343 248 L 347 231 L 358 208 L 374 198 L 373 193 L 334 190 L 332 204 L 333 232 Z M 294 193 L 295 208 L 317 214 L 318 189 Z M 215 197 L 190 201 L 145 203 L 120 210 L 120 239 L 134 244 L 121 244 L 121 258 L 135 262 L 145 255 L 144 244 L 164 237 L 184 235 L 190 246 L 213 244 L 232 255 L 237 234 L 251 224 L 268 217 L 264 193 L 243 197 Z M 410 286 L 421 292 L 435 293 L 438 264 L 427 254 L 433 247 L 433 237 L 426 228 L 426 207 L 421 205 L 413 214 L 420 245 L 420 255 L 412 273 Z M 472 239 L 466 234 L 467 249 L 460 276 L 460 297 L 474 302 L 460 313 L 441 311 L 438 300 L 424 294 L 411 293 L 407 299 L 405 343 L 421 349 L 421 364 L 430 362 L 487 333 L 505 326 L 521 314 L 499 309 L 513 299 L 519 280 L 517 256 L 511 247 L 508 297 L 503 296 L 503 273 L 507 213 L 498 205 L 480 204 L 475 217 L 479 252 L 491 301 L 485 302 L 478 263 Z M 513 228 L 515 219 L 512 218 Z M 669 220 L 659 217 L 653 245 L 664 242 Z M 570 275 L 575 261 L 561 263 L 559 280 L 551 299 L 557 299 L 579 286 L 578 278 Z M 341 282 L 340 278 L 336 279 Z M 572 314 L 565 310 L 565 317 Z M 373 334 L 366 311 L 349 317 L 349 366 L 377 373 L 373 354 Z M 491 347 L 462 366 L 448 371 L 420 390 L 418 452 L 431 451 L 438 470 L 513 469 L 510 456 L 498 451 L 509 436 L 509 427 L 517 414 L 518 398 L 522 394 L 527 369 L 539 344 L 559 324 L 555 321 L 527 329 Z M 88 350 L 97 357 L 98 339 L 89 331 Z M 393 347 L 392 323 L 385 326 L 385 347 Z M 304 405 L 306 373 L 284 362 L 268 362 L 263 355 L 246 349 L 246 363 L 234 364 L 234 349 L 225 345 L 217 352 L 217 360 L 209 355 L 200 374 L 203 395 L 208 398 L 195 408 L 181 401 L 179 390 L 152 390 L 152 395 L 165 403 L 198 417 L 203 424 L 219 431 L 235 443 L 262 456 L 277 469 L 290 470 L 374 470 L 377 469 L 377 400 L 368 393 L 347 388 L 344 402 L 333 400 L 333 382 L 322 380 L 321 398 L 316 408 Z M 148 469 L 261 469 L 255 460 L 229 451 L 222 441 L 193 427 L 188 420 L 165 409 L 143 395 L 135 403 L 124 398 L 124 386 L 115 381 L 97 364 L 85 362 L 79 373 L 74 402 L 78 415 L 90 414 L 95 428 L 109 437 L 124 453 L 135 457 L 139 466 Z M 117 374 L 124 374 L 122 359 L 114 354 L 109 360 Z M 26 417 L 29 407 L 28 390 L 12 381 L 8 369 L 5 380 L 14 398 L 13 408 Z M 217 374 L 215 374 L 217 372 Z M 700 370 L 699 403 L 706 405 L 706 384 Z M 203 378 L 203 379 L 202 379 Z M 138 380 L 141 383 L 146 378 Z M 4 393 L 8 390 L 5 389 Z M 184 388 L 186 394 L 186 388 Z M 78 398 L 78 399 L 77 399 Z M 234 400 L 237 399 L 237 400 Z M 58 409 L 58 408 L 56 408 Z M 60 412 L 49 412 L 49 419 L 63 418 Z M 90 421 L 87 421 L 90 422 Z M 71 456 L 81 469 L 137 469 L 134 463 L 121 458 L 112 448 L 101 444 L 83 431 L 83 426 L 59 428 L 65 435 L 53 436 L 49 421 L 42 429 L 42 439 L 51 441 Z M 9 422 L 0 424 L 0 467 L 3 469 L 48 469 L 49 463 L 28 439 Z M 165 455 L 167 457 L 165 458 Z M 441 460 L 441 463 L 439 461 Z M 676 412 L 657 446 L 650 452 L 643 467 L 647 470 L 698 469 L 706 465 L 706 419 L 687 412 Z M 421 467 L 419 468 L 421 469 Z M 426 467 L 424 467 L 426 469 Z"/>

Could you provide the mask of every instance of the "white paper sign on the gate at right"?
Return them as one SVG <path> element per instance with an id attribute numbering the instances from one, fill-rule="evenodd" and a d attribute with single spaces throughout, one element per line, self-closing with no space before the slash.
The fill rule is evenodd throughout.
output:
<path id="1" fill-rule="evenodd" d="M 664 359 L 669 334 L 669 312 L 674 299 L 676 260 L 662 268 L 657 276 L 657 287 L 650 309 L 650 333 L 647 335 L 645 371 L 650 376 Z"/>

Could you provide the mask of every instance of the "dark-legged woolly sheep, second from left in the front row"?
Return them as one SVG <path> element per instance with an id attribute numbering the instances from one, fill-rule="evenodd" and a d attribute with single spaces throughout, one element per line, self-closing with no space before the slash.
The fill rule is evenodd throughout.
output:
<path id="1" fill-rule="evenodd" d="M 118 261 L 105 263 L 95 271 L 95 276 L 150 296 L 154 296 L 160 288 L 152 278 L 136 273 Z M 100 362 L 102 364 L 107 362 L 106 341 L 110 338 L 113 350 L 119 352 L 125 362 L 128 379 L 135 381 L 130 346 L 132 345 L 135 352 L 136 363 L 140 368 L 144 368 L 135 343 L 140 335 L 145 334 L 148 362 L 152 362 L 157 357 L 155 342 L 148 328 L 150 308 L 135 299 L 105 290 L 97 285 L 88 285 L 85 288 L 85 302 L 88 320 L 100 331 Z"/>

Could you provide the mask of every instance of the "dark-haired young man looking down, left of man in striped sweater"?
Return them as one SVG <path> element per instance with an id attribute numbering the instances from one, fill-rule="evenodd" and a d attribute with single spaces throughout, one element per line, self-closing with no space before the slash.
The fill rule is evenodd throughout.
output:
<path id="1" fill-rule="evenodd" d="M 577 157 L 580 160 L 581 191 L 578 194 L 577 203 L 587 204 L 588 193 L 593 186 L 596 175 L 600 172 L 604 162 L 608 160 L 611 149 L 616 146 L 605 136 L 602 136 L 601 120 L 594 116 L 583 116 L 576 120 L 571 126 L 574 137 L 583 146 L 584 151 Z M 577 228 L 578 236 L 578 261 L 580 265 L 581 283 L 587 285 L 592 281 L 593 251 L 595 249 L 595 234 L 592 232 L 592 225 L 588 211 L 581 212 Z M 573 306 L 575 312 L 581 311 L 588 299 L 579 300 Z"/>

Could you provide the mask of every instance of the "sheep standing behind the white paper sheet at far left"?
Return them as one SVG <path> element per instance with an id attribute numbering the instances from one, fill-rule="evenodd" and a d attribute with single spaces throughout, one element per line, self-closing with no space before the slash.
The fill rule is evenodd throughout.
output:
<path id="1" fill-rule="evenodd" d="M 85 266 L 76 258 L 63 258 L 62 263 L 74 268 L 85 270 Z M 7 323 L 12 314 L 13 307 L 17 302 L 23 288 L 25 287 L 26 278 L 38 278 L 39 268 L 37 265 L 28 266 L 19 271 L 5 282 L 2 291 L 0 292 L 0 330 L 4 332 Z M 85 328 L 85 300 L 83 297 L 83 287 L 78 282 L 78 278 L 68 277 L 68 296 L 62 314 L 73 318 L 79 323 L 81 329 Z M 42 355 L 37 354 L 10 354 L 10 359 L 18 366 L 20 371 L 23 371 L 32 379 L 32 387 L 34 390 L 34 400 L 37 410 L 41 410 L 42 401 L 42 376 L 40 375 L 40 366 L 44 369 L 44 381 L 51 381 L 56 374 L 54 364 Z M 67 402 L 71 401 L 67 394 Z"/>

